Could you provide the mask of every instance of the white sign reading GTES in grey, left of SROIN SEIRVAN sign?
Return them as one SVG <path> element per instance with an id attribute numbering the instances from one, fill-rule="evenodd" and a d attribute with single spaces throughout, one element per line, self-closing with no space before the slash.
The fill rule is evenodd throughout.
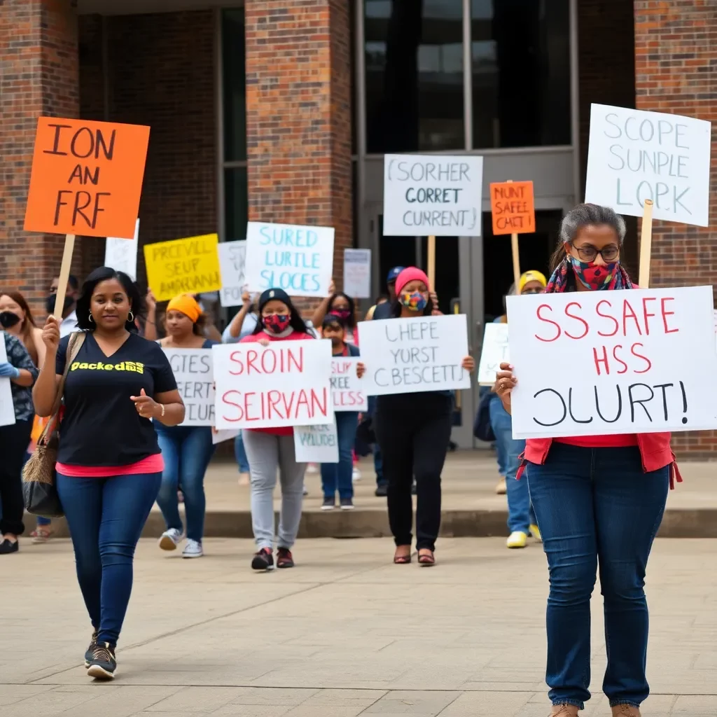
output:
<path id="1" fill-rule="evenodd" d="M 183 426 L 214 425 L 214 371 L 211 348 L 165 348 L 184 401 Z"/>

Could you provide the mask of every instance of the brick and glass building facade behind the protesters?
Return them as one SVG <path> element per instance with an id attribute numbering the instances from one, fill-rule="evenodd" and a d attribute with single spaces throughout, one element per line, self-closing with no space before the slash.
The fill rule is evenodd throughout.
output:
<path id="1" fill-rule="evenodd" d="M 336 227 L 392 265 L 425 237 L 384 237 L 384 153 L 477 153 L 484 235 L 442 237 L 437 293 L 473 348 L 503 311 L 510 244 L 492 237 L 488 184 L 533 180 L 536 234 L 521 267 L 547 270 L 561 214 L 581 199 L 591 103 L 717 123 L 711 0 L 4 0 L 0 2 L 0 277 L 42 305 L 63 239 L 22 230 L 38 115 L 151 126 L 141 243 L 247 219 Z M 717 152 L 713 151 L 713 186 Z M 711 195 L 711 214 L 717 199 Z M 717 219 L 713 219 L 716 222 Z M 627 258 L 637 265 L 637 222 Z M 655 222 L 655 285 L 713 283 L 717 229 Z M 78 242 L 74 270 L 103 262 Z M 143 267 L 139 267 L 143 281 Z M 455 429 L 472 445 L 475 398 Z M 709 433 L 675 437 L 707 455 Z"/>

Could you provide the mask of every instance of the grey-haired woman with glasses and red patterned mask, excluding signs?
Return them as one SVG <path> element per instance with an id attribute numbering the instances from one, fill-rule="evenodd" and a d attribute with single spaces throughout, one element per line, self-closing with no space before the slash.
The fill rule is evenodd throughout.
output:
<path id="1" fill-rule="evenodd" d="M 634 288 L 620 262 L 624 239 L 625 221 L 612 209 L 576 206 L 562 221 L 546 293 Z M 510 413 L 517 378 L 509 364 L 500 369 L 495 392 Z M 681 480 L 670 434 L 528 439 L 524 466 L 550 570 L 552 715 L 576 717 L 590 698 L 590 597 L 599 564 L 608 646 L 602 688 L 614 717 L 640 717 L 650 692 L 647 558 L 668 488 Z"/>

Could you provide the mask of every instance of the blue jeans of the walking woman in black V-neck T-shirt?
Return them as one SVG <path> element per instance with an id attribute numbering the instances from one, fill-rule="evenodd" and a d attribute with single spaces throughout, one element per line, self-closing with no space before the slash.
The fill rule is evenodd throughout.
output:
<path id="1" fill-rule="evenodd" d="M 77 581 L 99 642 L 117 645 L 132 592 L 134 551 L 161 480 L 161 473 L 113 478 L 57 473 Z"/>

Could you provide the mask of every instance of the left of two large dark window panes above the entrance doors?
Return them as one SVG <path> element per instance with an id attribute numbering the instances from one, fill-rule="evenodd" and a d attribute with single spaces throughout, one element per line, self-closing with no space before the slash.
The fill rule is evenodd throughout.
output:
<path id="1" fill-rule="evenodd" d="M 370 153 L 465 148 L 461 0 L 366 0 Z"/>

